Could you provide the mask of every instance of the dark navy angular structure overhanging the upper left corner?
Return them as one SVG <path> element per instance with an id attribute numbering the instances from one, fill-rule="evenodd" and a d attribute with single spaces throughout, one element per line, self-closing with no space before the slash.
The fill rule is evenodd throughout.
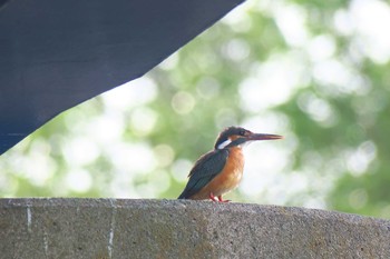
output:
<path id="1" fill-rule="evenodd" d="M 143 76 L 243 0 L 0 0 L 0 155 Z"/>

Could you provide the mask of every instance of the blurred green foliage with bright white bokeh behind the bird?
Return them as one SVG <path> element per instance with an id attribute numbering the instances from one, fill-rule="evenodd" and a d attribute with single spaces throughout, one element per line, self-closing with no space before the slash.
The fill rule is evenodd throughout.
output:
<path id="1" fill-rule="evenodd" d="M 0 157 L 0 196 L 173 199 L 240 124 L 285 140 L 250 146 L 227 198 L 390 218 L 388 24 L 380 0 L 248 0 Z"/>

